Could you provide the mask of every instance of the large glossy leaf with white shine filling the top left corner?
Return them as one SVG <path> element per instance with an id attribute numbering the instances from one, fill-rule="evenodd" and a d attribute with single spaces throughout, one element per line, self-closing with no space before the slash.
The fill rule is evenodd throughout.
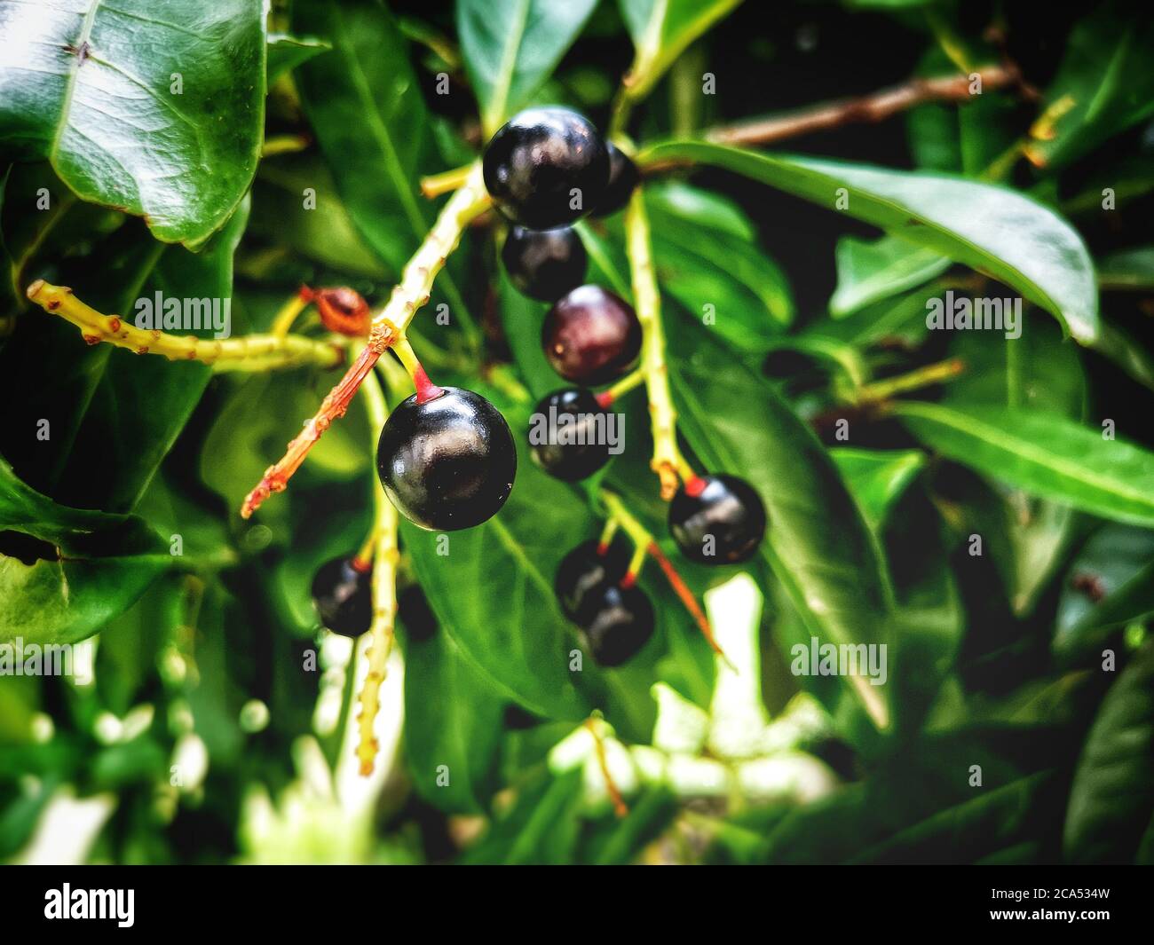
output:
<path id="1" fill-rule="evenodd" d="M 264 126 L 260 0 L 7 3 L 0 44 L 9 156 L 50 159 L 166 242 L 200 246 L 232 216 Z"/>

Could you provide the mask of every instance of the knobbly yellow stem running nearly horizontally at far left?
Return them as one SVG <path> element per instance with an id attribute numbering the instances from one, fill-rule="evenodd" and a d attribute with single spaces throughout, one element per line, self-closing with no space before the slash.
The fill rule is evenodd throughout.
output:
<path id="1" fill-rule="evenodd" d="M 213 370 L 262 372 L 315 365 L 331 368 L 345 350 L 331 342 L 299 335 L 243 335 L 239 338 L 197 338 L 141 329 L 119 315 L 104 315 L 77 299 L 70 288 L 37 279 L 28 298 L 45 312 L 59 315 L 81 330 L 90 345 L 107 342 L 136 354 L 160 354 L 170 361 L 201 361 Z"/>

